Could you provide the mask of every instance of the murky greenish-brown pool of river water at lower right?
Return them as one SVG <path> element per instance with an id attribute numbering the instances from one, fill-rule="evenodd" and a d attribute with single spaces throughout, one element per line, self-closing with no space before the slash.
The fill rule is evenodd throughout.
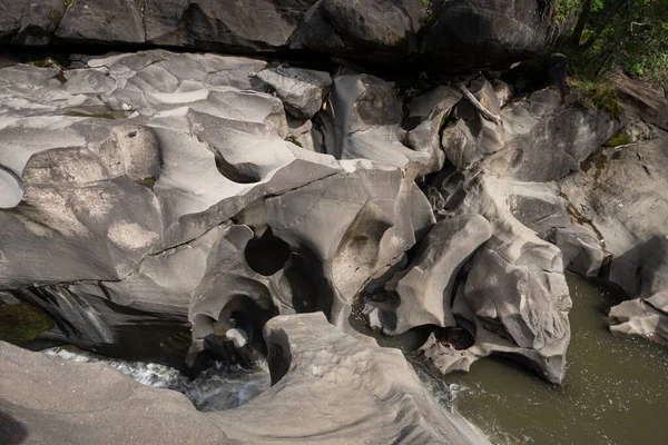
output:
<path id="1" fill-rule="evenodd" d="M 453 409 L 494 444 L 668 444 L 668 347 L 616 337 L 619 291 L 568 276 L 573 299 L 567 378 L 552 386 L 502 359 L 448 377 Z M 459 389 L 458 389 L 459 388 Z"/>

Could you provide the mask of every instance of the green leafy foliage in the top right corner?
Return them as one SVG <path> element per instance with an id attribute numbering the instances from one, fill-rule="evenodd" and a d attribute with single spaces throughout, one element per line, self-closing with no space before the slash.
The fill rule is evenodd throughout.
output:
<path id="1" fill-rule="evenodd" d="M 619 67 L 667 79 L 668 0 L 551 0 L 549 13 L 558 26 L 574 21 L 559 49 L 579 77 L 596 79 Z"/>

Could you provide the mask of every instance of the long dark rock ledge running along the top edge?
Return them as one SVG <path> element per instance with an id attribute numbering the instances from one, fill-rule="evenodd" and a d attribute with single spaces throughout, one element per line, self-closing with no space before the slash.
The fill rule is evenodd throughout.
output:
<path id="1" fill-rule="evenodd" d="M 458 72 L 525 59 L 557 37 L 534 0 L 18 0 L 0 17 L 14 44 L 289 50 Z"/>

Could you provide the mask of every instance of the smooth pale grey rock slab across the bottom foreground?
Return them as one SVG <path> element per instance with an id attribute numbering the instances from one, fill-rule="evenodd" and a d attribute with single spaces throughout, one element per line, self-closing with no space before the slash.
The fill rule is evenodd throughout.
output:
<path id="1" fill-rule="evenodd" d="M 489 443 L 425 393 L 399 350 L 363 344 L 322 314 L 276 317 L 265 335 L 274 386 L 217 413 L 197 412 L 181 394 L 100 364 L 2 343 L 0 433 L 68 444 Z"/>

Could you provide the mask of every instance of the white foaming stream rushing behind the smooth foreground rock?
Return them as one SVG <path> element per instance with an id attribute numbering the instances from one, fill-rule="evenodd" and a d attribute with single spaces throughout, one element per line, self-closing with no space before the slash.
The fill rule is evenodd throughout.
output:
<path id="1" fill-rule="evenodd" d="M 104 363 L 132 377 L 143 385 L 183 393 L 199 411 L 230 409 L 245 404 L 271 386 L 266 363 L 254 369 L 215 363 L 197 378 L 155 363 L 106 358 L 71 346 L 45 350 L 46 354 L 73 362 Z"/>

